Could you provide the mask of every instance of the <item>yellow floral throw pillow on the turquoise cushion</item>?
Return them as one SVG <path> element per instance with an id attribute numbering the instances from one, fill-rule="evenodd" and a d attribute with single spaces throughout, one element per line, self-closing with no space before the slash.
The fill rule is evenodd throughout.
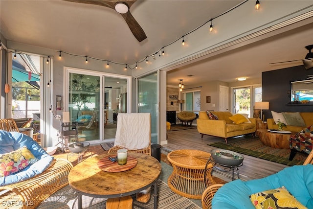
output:
<path id="1" fill-rule="evenodd" d="M 251 194 L 256 209 L 307 209 L 284 187 Z"/>

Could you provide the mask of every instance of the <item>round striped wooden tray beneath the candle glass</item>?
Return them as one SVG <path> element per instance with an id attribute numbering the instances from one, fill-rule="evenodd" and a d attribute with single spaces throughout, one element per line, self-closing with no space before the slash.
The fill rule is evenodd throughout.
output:
<path id="1" fill-rule="evenodd" d="M 109 157 L 109 156 L 108 156 Z M 100 161 L 98 161 L 98 167 L 107 172 L 122 172 L 127 171 L 132 168 L 134 168 L 138 161 L 133 156 L 127 156 L 127 163 L 125 165 L 119 165 L 117 162 L 113 163 L 109 160 L 108 157 L 102 158 Z"/>

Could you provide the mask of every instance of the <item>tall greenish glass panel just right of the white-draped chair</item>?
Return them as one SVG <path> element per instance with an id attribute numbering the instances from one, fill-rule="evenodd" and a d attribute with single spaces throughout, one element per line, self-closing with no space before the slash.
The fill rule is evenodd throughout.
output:
<path id="1" fill-rule="evenodd" d="M 151 143 L 157 142 L 157 73 L 138 78 L 138 113 L 151 113 Z"/>

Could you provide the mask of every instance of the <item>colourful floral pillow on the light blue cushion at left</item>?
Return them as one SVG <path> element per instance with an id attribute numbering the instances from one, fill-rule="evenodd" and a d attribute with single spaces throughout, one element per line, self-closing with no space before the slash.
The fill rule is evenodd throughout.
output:
<path id="1" fill-rule="evenodd" d="M 38 161 L 26 146 L 0 154 L 0 177 L 9 176 Z"/>

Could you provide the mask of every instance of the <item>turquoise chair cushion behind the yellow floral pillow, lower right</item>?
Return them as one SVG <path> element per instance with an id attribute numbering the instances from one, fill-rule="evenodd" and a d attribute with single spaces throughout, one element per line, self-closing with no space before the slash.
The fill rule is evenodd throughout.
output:
<path id="1" fill-rule="evenodd" d="M 212 209 L 255 209 L 249 195 L 285 186 L 304 206 L 313 208 L 313 165 L 294 165 L 276 174 L 250 181 L 236 180 L 214 195 Z"/>

